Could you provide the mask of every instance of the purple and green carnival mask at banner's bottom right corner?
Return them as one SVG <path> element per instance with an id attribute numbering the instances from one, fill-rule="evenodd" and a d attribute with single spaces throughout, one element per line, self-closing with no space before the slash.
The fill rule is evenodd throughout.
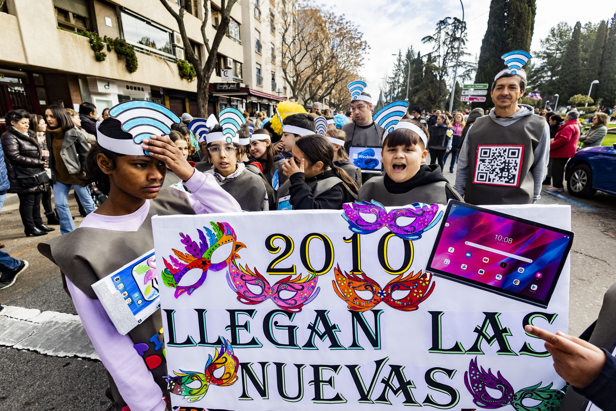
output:
<path id="1" fill-rule="evenodd" d="M 511 405 L 517 411 L 552 411 L 558 409 L 565 395 L 566 385 L 561 389 L 553 389 L 552 383 L 541 387 L 541 382 L 533 386 L 522 388 L 514 393 L 513 386 L 500 373 L 496 375 L 488 368 L 477 365 L 477 357 L 471 360 L 468 372 L 464 372 L 464 384 L 472 394 L 473 402 L 484 409 L 496 409 Z M 500 391 L 501 396 L 492 397 L 486 388 Z M 525 399 L 532 399 L 537 405 L 522 404 Z"/>

